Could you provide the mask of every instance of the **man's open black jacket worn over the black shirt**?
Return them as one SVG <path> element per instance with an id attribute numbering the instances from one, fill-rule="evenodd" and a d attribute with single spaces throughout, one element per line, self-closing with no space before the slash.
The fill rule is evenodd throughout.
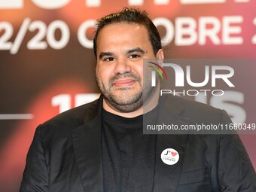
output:
<path id="1" fill-rule="evenodd" d="M 178 96 L 159 105 L 175 124 L 230 123 L 225 111 Z M 101 111 L 102 97 L 38 126 L 20 191 L 103 191 Z M 173 166 L 161 160 L 166 148 L 180 156 Z M 157 135 L 154 191 L 254 192 L 256 175 L 237 135 Z"/>

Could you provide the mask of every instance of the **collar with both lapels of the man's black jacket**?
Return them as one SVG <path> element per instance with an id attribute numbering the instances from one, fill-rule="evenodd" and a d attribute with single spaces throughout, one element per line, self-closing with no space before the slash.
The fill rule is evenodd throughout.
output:
<path id="1" fill-rule="evenodd" d="M 180 125 L 186 120 L 181 116 L 182 107 L 174 96 L 160 99 L 160 117 Z M 102 173 L 102 96 L 83 115 L 84 124 L 73 130 L 75 158 L 81 174 L 84 191 L 103 191 Z M 187 135 L 157 135 L 154 191 L 175 191 L 180 178 Z M 168 166 L 161 160 L 166 148 L 178 151 L 178 163 Z"/>

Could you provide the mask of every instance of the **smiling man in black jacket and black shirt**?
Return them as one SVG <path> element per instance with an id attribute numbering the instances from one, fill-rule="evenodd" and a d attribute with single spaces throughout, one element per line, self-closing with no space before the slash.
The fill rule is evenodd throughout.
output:
<path id="1" fill-rule="evenodd" d="M 161 62 L 163 50 L 144 11 L 98 20 L 93 43 L 102 96 L 38 126 L 20 191 L 256 191 L 236 135 L 143 135 L 143 114 L 152 122 L 167 114 L 179 125 L 230 123 L 216 108 L 160 98 L 159 81 L 151 87 L 143 59 Z M 174 163 L 163 162 L 168 153 Z"/>

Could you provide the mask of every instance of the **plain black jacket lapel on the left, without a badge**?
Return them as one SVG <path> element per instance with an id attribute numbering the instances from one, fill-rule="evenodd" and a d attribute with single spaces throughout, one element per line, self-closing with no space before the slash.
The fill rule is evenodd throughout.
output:
<path id="1" fill-rule="evenodd" d="M 96 117 L 84 120 L 85 123 L 72 132 L 75 158 L 84 191 L 103 191 L 101 103 L 102 99 L 99 99 L 97 109 L 94 108 L 98 111 Z M 90 114 L 87 113 L 84 117 L 88 116 Z"/>

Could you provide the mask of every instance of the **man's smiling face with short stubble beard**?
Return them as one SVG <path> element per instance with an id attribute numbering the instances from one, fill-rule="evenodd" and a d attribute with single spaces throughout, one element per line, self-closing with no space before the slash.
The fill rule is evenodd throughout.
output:
<path id="1" fill-rule="evenodd" d="M 105 102 L 118 112 L 141 108 L 143 98 L 153 92 L 149 68 L 147 79 L 143 79 L 143 59 L 156 57 L 145 26 L 136 23 L 105 26 L 96 43 L 96 81 Z"/>

